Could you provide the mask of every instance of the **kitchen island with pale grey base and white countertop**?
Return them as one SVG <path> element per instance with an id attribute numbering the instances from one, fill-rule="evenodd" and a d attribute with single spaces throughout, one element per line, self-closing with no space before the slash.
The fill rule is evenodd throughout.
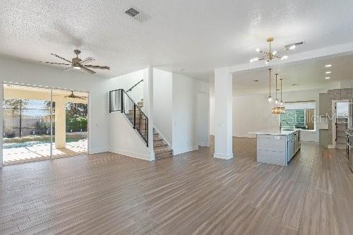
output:
<path id="1" fill-rule="evenodd" d="M 300 149 L 300 129 L 255 131 L 257 162 L 287 166 Z"/>

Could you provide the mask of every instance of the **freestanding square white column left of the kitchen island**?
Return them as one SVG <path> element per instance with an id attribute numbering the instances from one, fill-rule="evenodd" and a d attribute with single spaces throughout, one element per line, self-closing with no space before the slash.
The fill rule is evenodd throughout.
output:
<path id="1" fill-rule="evenodd" d="M 229 68 L 215 69 L 215 155 L 231 159 L 232 141 L 232 73 Z"/>

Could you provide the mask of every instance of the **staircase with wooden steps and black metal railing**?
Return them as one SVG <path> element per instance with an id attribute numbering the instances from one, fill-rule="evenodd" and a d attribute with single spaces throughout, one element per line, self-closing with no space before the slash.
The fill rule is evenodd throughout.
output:
<path id="1" fill-rule="evenodd" d="M 143 113 L 142 108 L 143 100 L 136 104 L 122 89 L 109 92 L 109 112 L 124 113 L 148 146 L 148 117 Z M 168 145 L 156 128 L 153 128 L 153 150 L 156 160 L 173 156 L 172 147 Z"/>

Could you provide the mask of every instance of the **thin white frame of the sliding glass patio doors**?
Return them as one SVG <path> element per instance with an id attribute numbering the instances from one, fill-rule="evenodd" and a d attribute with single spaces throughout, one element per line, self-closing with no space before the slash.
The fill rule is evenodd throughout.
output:
<path id="1" fill-rule="evenodd" d="M 8 81 L 1 82 L 1 89 L 0 89 L 0 128 L 1 132 L 4 131 L 4 85 L 18 85 L 28 88 L 42 88 L 50 90 L 50 156 L 49 159 L 53 158 L 53 90 L 64 90 L 68 92 L 85 92 L 87 93 L 87 106 L 88 106 L 88 119 L 87 119 L 87 154 L 90 154 L 90 92 L 86 90 L 76 90 L 76 89 L 67 89 L 67 88 L 55 88 L 55 87 L 48 87 L 43 85 L 29 85 L 29 84 L 22 84 L 22 83 L 13 83 Z M 65 130 L 66 131 L 66 130 Z M 3 145 L 4 145 L 4 133 L 0 135 L 0 168 L 4 167 L 4 158 L 3 158 Z M 68 156 L 70 157 L 70 156 Z M 43 161 L 46 159 L 43 159 Z M 22 163 L 22 162 L 21 162 Z M 20 163 L 19 163 L 20 164 Z"/>

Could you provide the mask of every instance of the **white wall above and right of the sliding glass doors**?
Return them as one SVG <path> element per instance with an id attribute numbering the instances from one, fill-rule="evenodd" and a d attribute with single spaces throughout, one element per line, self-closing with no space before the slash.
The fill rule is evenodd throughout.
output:
<path id="1" fill-rule="evenodd" d="M 53 68 L 40 64 L 31 64 L 8 58 L 0 58 L 1 82 L 20 83 L 22 85 L 42 85 L 49 88 L 82 90 L 90 92 L 90 153 L 108 150 L 109 99 L 107 95 L 107 78 L 93 76 L 88 73 L 70 71 L 62 72 L 61 68 Z M 2 92 L 2 89 L 0 89 Z M 0 119 L 3 119 L 0 105 Z M 2 121 L 0 121 L 2 129 Z M 1 137 L 2 138 L 2 137 Z M 0 151 L 2 152 L 2 151 Z"/>

